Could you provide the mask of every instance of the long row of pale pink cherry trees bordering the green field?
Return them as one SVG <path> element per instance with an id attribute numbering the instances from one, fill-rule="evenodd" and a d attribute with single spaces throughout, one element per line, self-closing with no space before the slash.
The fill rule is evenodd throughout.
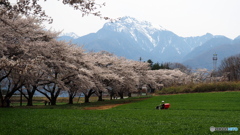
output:
<path id="1" fill-rule="evenodd" d="M 104 92 L 112 99 L 137 91 L 143 85 L 158 89 L 162 85 L 186 84 L 194 74 L 180 70 L 149 70 L 147 62 L 127 60 L 108 52 L 84 52 L 70 42 L 58 41 L 59 33 L 45 30 L 40 19 L 11 18 L 0 15 L 0 100 L 1 106 L 20 92 L 33 105 L 33 96 L 40 92 L 56 105 L 62 92 L 69 103 L 82 93 L 85 102 L 92 94 L 102 100 Z M 198 74 L 201 75 L 201 74 Z M 203 74 L 206 75 L 206 74 Z M 202 75 L 201 75 L 202 76 Z"/>

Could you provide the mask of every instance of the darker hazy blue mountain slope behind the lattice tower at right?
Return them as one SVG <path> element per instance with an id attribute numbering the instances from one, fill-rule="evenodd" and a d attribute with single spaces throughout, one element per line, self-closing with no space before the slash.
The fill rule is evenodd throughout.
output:
<path id="1" fill-rule="evenodd" d="M 224 58 L 240 54 L 240 39 L 231 40 L 226 37 L 216 37 L 207 41 L 204 45 L 195 48 L 189 53 L 184 65 L 193 68 L 213 69 L 213 54 L 217 54 L 217 66 L 221 64 Z"/>

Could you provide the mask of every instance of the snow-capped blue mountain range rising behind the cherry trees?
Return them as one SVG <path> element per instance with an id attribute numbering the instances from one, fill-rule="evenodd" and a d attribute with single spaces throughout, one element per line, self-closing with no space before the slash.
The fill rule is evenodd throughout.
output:
<path id="1" fill-rule="evenodd" d="M 84 45 L 88 51 L 105 50 L 128 59 L 139 60 L 141 57 L 144 61 L 151 59 L 154 62 L 184 62 L 190 67 L 192 61 L 197 62 L 198 64 L 195 64 L 193 68 L 197 68 L 196 65 L 202 65 L 202 61 L 196 59 L 203 57 L 212 59 L 212 56 L 203 55 L 204 53 L 209 50 L 213 52 L 210 51 L 208 54 L 218 53 L 214 52 L 214 50 L 220 51 L 216 49 L 218 46 L 232 42 L 224 36 L 214 36 L 209 33 L 197 37 L 180 37 L 160 25 L 153 25 L 132 17 L 123 17 L 115 23 L 105 23 L 96 33 L 83 37 L 73 39 L 62 36 L 59 38 L 61 40 L 72 39 L 73 43 Z M 235 42 L 239 44 L 239 40 Z M 226 47 L 223 48 L 226 49 Z M 230 54 L 224 56 L 228 55 Z"/>

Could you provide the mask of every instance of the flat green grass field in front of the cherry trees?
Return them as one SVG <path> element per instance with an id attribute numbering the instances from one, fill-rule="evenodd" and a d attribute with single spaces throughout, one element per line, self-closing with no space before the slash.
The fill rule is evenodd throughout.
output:
<path id="1" fill-rule="evenodd" d="M 155 109 L 162 100 L 171 103 L 170 109 Z M 240 92 L 219 92 L 154 96 L 108 110 L 82 110 L 82 105 L 0 108 L 0 134 L 240 134 L 209 130 L 211 126 L 240 129 L 239 105 Z"/>

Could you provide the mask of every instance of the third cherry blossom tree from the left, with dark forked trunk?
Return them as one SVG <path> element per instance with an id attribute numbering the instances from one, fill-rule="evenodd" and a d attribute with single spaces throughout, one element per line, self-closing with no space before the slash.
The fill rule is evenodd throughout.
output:
<path id="1" fill-rule="evenodd" d="M 47 59 L 44 61 L 48 67 L 45 80 L 47 84 L 38 91 L 44 94 L 52 105 L 56 105 L 61 91 L 68 90 L 67 85 L 73 84 L 71 81 L 81 72 L 79 65 L 85 66 L 84 62 L 80 61 L 83 51 L 73 52 L 74 49 L 76 48 L 63 41 L 49 42 L 48 52 L 45 54 Z"/>

